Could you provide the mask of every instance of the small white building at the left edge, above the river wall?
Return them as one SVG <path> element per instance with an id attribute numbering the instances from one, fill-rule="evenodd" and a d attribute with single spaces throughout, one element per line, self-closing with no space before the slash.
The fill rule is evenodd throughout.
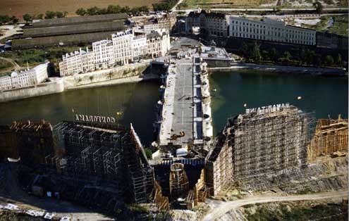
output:
<path id="1" fill-rule="evenodd" d="M 11 76 L 0 77 L 0 90 L 28 87 L 44 82 L 49 77 L 47 73 L 48 65 L 49 63 L 44 63 L 30 70 L 13 71 Z"/>

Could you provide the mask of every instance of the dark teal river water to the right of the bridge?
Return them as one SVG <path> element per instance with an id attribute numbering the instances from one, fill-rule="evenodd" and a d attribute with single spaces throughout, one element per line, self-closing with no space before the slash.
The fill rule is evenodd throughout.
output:
<path id="1" fill-rule="evenodd" d="M 226 119 L 247 108 L 290 103 L 316 118 L 348 118 L 348 78 L 266 72 L 214 72 L 210 75 L 214 134 Z M 298 100 L 298 96 L 302 99 Z"/>

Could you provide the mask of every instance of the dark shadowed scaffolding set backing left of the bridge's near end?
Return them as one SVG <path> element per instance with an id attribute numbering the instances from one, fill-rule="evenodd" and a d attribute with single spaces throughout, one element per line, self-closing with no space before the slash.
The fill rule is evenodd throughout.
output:
<path id="1" fill-rule="evenodd" d="M 78 180 L 96 180 L 102 184 L 103 193 L 117 193 L 131 203 L 147 203 L 154 189 L 154 171 L 147 162 L 140 139 L 130 128 L 118 125 L 93 125 L 82 122 L 60 122 L 54 126 L 54 154 L 47 156 L 48 164 L 66 177 L 76 181 L 75 201 L 85 193 L 99 187 Z M 91 187 L 92 186 L 92 187 Z M 97 196 L 96 195 L 96 196 Z M 114 201 L 114 198 L 111 198 Z"/>

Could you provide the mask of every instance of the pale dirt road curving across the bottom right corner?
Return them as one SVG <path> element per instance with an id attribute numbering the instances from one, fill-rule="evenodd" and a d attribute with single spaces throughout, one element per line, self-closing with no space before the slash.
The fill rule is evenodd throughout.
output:
<path id="1" fill-rule="evenodd" d="M 252 196 L 237 201 L 223 202 L 208 200 L 207 203 L 214 204 L 214 208 L 209 214 L 204 217 L 204 221 L 215 220 L 222 215 L 228 213 L 231 210 L 235 210 L 240 206 L 245 206 L 255 203 L 270 203 L 280 201 L 310 201 L 310 200 L 322 200 L 322 199 L 341 199 L 348 198 L 348 191 L 331 191 L 319 194 L 304 194 L 296 196 Z"/>

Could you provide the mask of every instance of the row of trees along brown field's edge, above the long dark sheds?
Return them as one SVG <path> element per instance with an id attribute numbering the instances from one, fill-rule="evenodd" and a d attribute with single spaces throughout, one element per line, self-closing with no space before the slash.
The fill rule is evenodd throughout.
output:
<path id="1" fill-rule="evenodd" d="M 91 8 L 78 8 L 77 11 L 75 11 L 77 15 L 84 16 L 84 15 L 105 15 L 105 14 L 113 14 L 113 13 L 130 13 L 133 15 L 140 15 L 140 13 L 149 13 L 148 6 L 140 6 L 140 7 L 133 7 L 130 8 L 128 6 L 121 7 L 118 5 L 109 5 L 106 8 L 98 8 L 96 6 Z"/>

